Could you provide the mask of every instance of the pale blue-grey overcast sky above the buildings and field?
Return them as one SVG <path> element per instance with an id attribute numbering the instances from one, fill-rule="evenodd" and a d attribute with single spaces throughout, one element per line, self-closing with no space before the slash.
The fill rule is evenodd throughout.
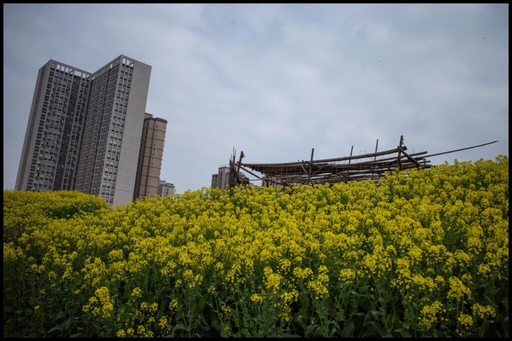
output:
<path id="1" fill-rule="evenodd" d="M 210 186 L 246 163 L 396 148 L 508 156 L 508 4 L 4 4 L 4 189 L 13 189 L 39 68 L 152 66 L 167 120 L 161 179 Z"/>

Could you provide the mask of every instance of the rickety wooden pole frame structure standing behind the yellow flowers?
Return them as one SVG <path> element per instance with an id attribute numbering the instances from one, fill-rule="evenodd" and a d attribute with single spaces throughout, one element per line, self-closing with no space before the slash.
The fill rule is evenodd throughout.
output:
<path id="1" fill-rule="evenodd" d="M 246 185 L 250 183 L 250 181 L 258 180 L 266 181 L 267 184 L 272 184 L 273 186 L 287 187 L 293 187 L 298 184 L 323 185 L 328 183 L 332 185 L 342 182 L 347 183 L 349 181 L 364 181 L 368 179 L 377 183 L 378 179 L 383 177 L 386 172 L 391 172 L 395 169 L 431 168 L 432 165 L 429 164 L 430 161 L 426 159 L 429 156 L 453 153 L 465 149 L 485 146 L 495 142 L 498 141 L 430 155 L 425 155 L 427 154 L 426 151 L 409 154 L 407 152 L 407 147 L 403 145 L 402 135 L 400 137 L 400 143 L 395 149 L 377 152 L 377 140 L 374 153 L 353 156 L 352 150 L 354 146 L 352 146 L 350 156 L 329 158 L 325 160 L 313 160 L 313 148 L 311 150 L 311 158 L 309 161 L 297 160 L 297 162 L 277 164 L 242 163 L 242 158 L 245 156 L 243 151 L 240 153 L 240 159 L 235 161 L 236 151 L 233 149 L 233 154 L 229 160 L 229 187 L 233 188 L 237 185 Z M 377 156 L 382 158 L 377 160 Z M 373 160 L 361 161 L 361 159 L 368 158 L 373 158 Z M 248 179 L 245 175 L 240 173 L 241 170 L 255 178 Z M 254 172 L 259 172 L 263 174 L 263 176 L 257 175 Z"/>

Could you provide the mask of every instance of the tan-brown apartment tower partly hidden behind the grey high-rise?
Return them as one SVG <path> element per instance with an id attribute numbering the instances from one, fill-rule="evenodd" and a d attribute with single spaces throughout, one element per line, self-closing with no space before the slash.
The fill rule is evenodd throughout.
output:
<path id="1" fill-rule="evenodd" d="M 145 113 L 134 199 L 155 196 L 159 192 L 160 169 L 167 121 Z"/>

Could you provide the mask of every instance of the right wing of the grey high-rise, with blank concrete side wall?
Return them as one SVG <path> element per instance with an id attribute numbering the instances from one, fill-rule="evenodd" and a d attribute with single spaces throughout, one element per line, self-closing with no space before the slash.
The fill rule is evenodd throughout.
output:
<path id="1" fill-rule="evenodd" d="M 119 56 L 92 75 L 76 189 L 116 206 L 130 202 L 151 66 Z"/>

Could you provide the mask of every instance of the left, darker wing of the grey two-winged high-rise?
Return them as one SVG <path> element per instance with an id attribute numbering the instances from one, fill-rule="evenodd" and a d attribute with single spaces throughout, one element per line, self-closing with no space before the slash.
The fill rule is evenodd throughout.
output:
<path id="1" fill-rule="evenodd" d="M 90 81 L 90 73 L 55 60 L 39 69 L 16 190 L 74 188 Z"/>

